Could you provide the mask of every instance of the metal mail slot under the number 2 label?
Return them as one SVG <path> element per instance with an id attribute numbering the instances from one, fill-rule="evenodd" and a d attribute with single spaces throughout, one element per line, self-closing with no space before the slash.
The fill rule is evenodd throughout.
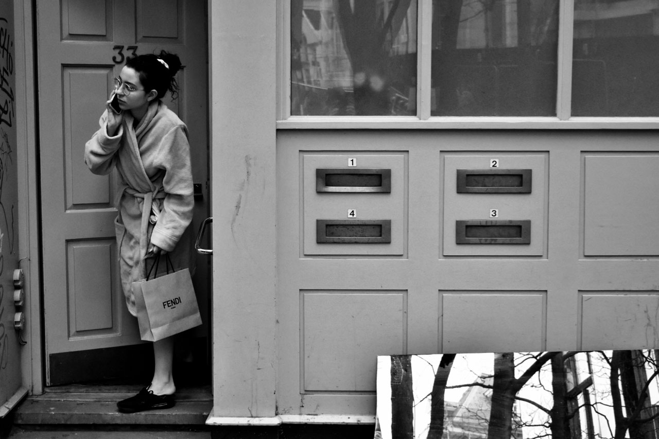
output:
<path id="1" fill-rule="evenodd" d="M 530 194 L 531 169 L 457 169 L 457 192 Z"/>

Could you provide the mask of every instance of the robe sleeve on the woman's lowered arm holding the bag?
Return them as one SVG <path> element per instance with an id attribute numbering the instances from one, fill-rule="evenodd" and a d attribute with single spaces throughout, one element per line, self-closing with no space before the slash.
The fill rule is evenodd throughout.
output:
<path id="1" fill-rule="evenodd" d="M 177 125 L 163 136 L 155 159 L 156 165 L 165 171 L 165 198 L 151 243 L 171 251 L 190 225 L 194 208 L 190 144 L 184 125 Z"/>

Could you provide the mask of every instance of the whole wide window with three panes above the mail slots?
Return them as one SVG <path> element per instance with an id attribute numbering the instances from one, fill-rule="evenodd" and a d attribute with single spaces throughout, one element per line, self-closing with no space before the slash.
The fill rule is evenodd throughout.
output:
<path id="1" fill-rule="evenodd" d="M 285 4 L 284 118 L 659 117 L 659 0 Z"/>

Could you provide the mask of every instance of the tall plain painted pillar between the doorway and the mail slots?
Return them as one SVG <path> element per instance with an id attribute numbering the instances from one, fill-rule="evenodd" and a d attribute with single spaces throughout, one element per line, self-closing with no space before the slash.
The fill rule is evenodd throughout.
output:
<path id="1" fill-rule="evenodd" d="M 276 424 L 276 2 L 208 1 L 213 391 L 208 424 Z"/>

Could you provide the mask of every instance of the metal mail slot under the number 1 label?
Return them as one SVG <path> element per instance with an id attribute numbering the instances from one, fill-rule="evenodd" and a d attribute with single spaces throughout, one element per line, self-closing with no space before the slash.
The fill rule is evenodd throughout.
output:
<path id="1" fill-rule="evenodd" d="M 316 192 L 391 192 L 391 169 L 316 169 Z"/>

